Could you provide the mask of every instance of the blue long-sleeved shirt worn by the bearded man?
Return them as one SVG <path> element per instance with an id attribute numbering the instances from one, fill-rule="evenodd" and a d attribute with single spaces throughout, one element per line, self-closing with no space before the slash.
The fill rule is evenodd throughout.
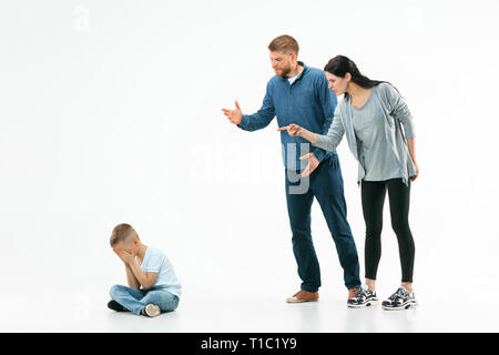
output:
<path id="1" fill-rule="evenodd" d="M 277 115 L 278 126 L 296 123 L 310 132 L 327 134 L 338 102 L 336 95 L 327 88 L 324 71 L 301 61 L 298 64 L 304 69 L 293 84 L 289 85 L 287 78 L 278 75 L 268 81 L 262 108 L 254 114 L 243 114 L 238 128 L 245 131 L 261 130 Z M 313 152 L 319 162 L 327 154 L 336 154 L 336 151 L 327 152 L 313 146 L 302 136 L 291 136 L 287 131 L 281 131 L 281 142 L 283 162 L 287 169 L 305 169 L 308 160 L 301 161 L 299 156 L 308 152 Z"/>

